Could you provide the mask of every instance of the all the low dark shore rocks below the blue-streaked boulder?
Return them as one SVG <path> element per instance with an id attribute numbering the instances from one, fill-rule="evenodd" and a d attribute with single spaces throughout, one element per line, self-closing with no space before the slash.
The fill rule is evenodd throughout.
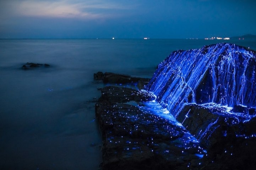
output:
<path id="1" fill-rule="evenodd" d="M 94 79 L 111 85 L 100 89 L 95 105 L 103 139 L 103 170 L 255 168 L 255 118 L 232 124 L 235 118 L 216 114 L 221 109 L 195 104 L 184 107 L 177 125 L 147 105 L 155 96 L 140 89 L 149 80 L 102 72 L 94 74 Z M 127 83 L 134 86 L 122 87 Z M 207 119 L 216 120 L 216 126 L 209 126 Z M 210 128 L 217 130 L 212 133 Z M 204 139 L 198 142 L 200 134 Z"/>

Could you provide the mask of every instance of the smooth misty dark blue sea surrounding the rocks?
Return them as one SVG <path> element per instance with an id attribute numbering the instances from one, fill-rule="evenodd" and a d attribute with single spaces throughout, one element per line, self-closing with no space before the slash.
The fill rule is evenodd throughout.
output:
<path id="1" fill-rule="evenodd" d="M 172 51 L 220 42 L 256 50 L 255 40 L 0 40 L 0 170 L 98 170 L 94 105 L 106 84 L 93 74 L 151 78 Z"/>

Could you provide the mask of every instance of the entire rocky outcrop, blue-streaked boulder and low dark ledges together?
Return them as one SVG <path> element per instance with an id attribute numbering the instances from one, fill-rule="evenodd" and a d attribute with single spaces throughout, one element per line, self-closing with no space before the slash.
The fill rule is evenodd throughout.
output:
<path id="1" fill-rule="evenodd" d="M 103 88 L 96 104 L 102 169 L 255 169 L 255 72 L 255 51 L 220 43 L 171 53 L 147 91 Z M 109 73 L 96 77 L 140 81 Z M 153 99 L 176 120 L 151 107 Z"/>

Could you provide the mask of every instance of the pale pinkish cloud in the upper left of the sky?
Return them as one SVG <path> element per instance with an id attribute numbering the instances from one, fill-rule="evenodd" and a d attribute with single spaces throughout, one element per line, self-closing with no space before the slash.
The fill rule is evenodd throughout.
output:
<path id="1" fill-rule="evenodd" d="M 116 17 L 113 11 L 129 10 L 131 5 L 104 0 L 23 0 L 12 3 L 13 12 L 21 16 L 96 19 Z M 120 15 L 120 12 L 119 12 Z"/>

